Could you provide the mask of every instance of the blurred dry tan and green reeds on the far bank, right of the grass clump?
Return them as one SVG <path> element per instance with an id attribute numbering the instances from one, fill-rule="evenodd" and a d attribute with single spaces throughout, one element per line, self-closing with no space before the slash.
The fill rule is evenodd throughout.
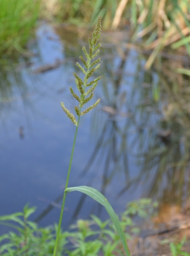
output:
<path id="1" fill-rule="evenodd" d="M 184 46 L 190 55 L 188 0 L 59 0 L 59 4 L 58 16 L 64 22 L 89 26 L 101 15 L 104 29 L 130 25 L 132 41 L 140 41 L 145 50 L 152 52 L 147 69 L 165 46 Z"/>

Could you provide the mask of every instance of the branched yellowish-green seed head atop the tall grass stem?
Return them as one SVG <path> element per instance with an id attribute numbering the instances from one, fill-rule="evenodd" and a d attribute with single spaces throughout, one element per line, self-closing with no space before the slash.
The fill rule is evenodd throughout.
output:
<path id="1" fill-rule="evenodd" d="M 74 107 L 75 114 L 80 117 L 80 115 L 84 115 L 88 113 L 90 110 L 95 108 L 100 99 L 96 101 L 93 105 L 89 106 L 87 109 L 82 111 L 82 108 L 84 104 L 88 103 L 88 101 L 92 100 L 93 98 L 93 91 L 96 89 L 96 86 L 98 84 L 98 81 L 101 79 L 101 77 L 98 77 L 92 81 L 89 81 L 89 78 L 93 75 L 94 72 L 97 71 L 97 69 L 100 67 L 101 59 L 98 58 L 96 60 L 93 60 L 97 57 L 99 53 L 99 47 L 101 44 L 97 44 L 98 39 L 101 36 L 101 17 L 99 16 L 97 25 L 94 28 L 92 38 L 88 38 L 89 43 L 89 49 L 87 52 L 87 49 L 85 46 L 83 46 L 82 50 L 84 52 L 84 55 L 86 56 L 86 59 L 84 59 L 82 56 L 80 56 L 80 60 L 82 61 L 84 67 L 82 67 L 78 62 L 76 63 L 77 67 L 80 68 L 80 70 L 84 73 L 84 80 L 82 80 L 76 73 L 73 73 L 75 77 L 75 83 L 77 85 L 77 89 L 79 91 L 80 95 L 75 94 L 72 87 L 70 87 L 70 93 L 74 97 L 75 100 L 78 101 L 78 106 Z M 61 107 L 64 110 L 64 112 L 67 114 L 67 116 L 72 120 L 72 122 L 75 125 L 78 125 L 77 119 L 74 117 L 74 114 L 72 114 L 67 108 L 65 108 L 64 103 L 61 103 Z"/>

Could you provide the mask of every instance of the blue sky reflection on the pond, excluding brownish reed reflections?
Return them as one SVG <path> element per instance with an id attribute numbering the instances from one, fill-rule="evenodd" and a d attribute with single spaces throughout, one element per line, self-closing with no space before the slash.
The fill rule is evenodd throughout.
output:
<path id="1" fill-rule="evenodd" d="M 51 27 L 41 26 L 37 31 L 36 45 L 32 46 L 34 53 L 38 53 L 31 58 L 32 66 L 20 68 L 19 75 L 16 75 L 17 79 L 11 72 L 7 73 L 7 80 L 11 81 L 13 91 L 4 99 L 1 108 L 3 118 L 0 134 L 0 215 L 21 211 L 26 203 L 30 203 L 31 206 L 37 206 L 33 216 L 35 219 L 50 203 L 56 207 L 44 212 L 44 216 L 38 218 L 40 225 L 53 224 L 59 219 L 60 200 L 59 202 L 54 200 L 63 194 L 75 131 L 74 125 L 60 107 L 60 101 L 64 101 L 67 106 L 73 104 L 68 88 L 69 85 L 74 85 L 72 73 L 75 71 L 75 66 L 72 59 L 68 62 L 64 60 L 65 55 L 69 57 L 70 54 L 73 57 L 74 53 L 72 50 L 69 53 L 67 51 L 69 48 L 65 50 L 64 47 Z M 80 50 L 77 49 L 76 53 L 79 52 Z M 111 50 L 112 52 L 114 51 Z M 58 62 L 61 64 L 51 71 L 32 73 L 43 65 Z M 125 193 L 121 193 L 119 199 L 116 198 L 116 194 L 125 188 L 128 180 L 135 179 L 140 172 L 140 165 L 136 163 L 136 156 L 133 154 L 137 153 L 139 148 L 139 142 L 134 141 L 134 134 L 137 132 L 136 126 L 140 126 L 141 113 L 135 115 L 136 120 L 133 120 L 134 123 L 131 125 L 128 117 L 134 111 L 133 108 L 138 108 L 141 101 L 140 93 L 132 87 L 135 77 L 130 73 L 135 73 L 136 66 L 143 63 L 143 60 L 139 62 L 137 53 L 130 51 L 122 67 L 124 74 L 120 85 L 113 87 L 108 71 L 117 70 L 120 62 L 121 59 L 118 57 L 104 60 L 99 75 L 105 73 L 106 75 L 96 91 L 96 98 L 102 97 L 102 106 L 119 108 L 118 111 L 123 114 L 116 117 L 114 114 L 108 114 L 107 111 L 103 113 L 102 106 L 99 106 L 82 118 L 69 182 L 71 187 L 91 185 L 101 190 L 117 213 L 124 210 L 128 201 L 139 198 L 143 192 L 142 180 L 138 187 L 132 186 Z M 119 78 L 119 74 L 117 75 Z M 125 99 L 122 103 L 122 95 L 127 97 L 128 105 Z M 159 115 L 153 114 L 150 119 L 156 123 Z M 135 126 L 135 123 L 138 125 Z M 102 139 L 101 134 L 103 134 Z M 126 145 L 122 148 L 124 139 Z M 128 145 L 131 143 L 134 146 L 129 150 Z M 92 161 L 85 175 L 81 175 L 91 158 Z M 82 204 L 81 196 L 80 193 L 68 194 L 64 227 L 70 224 L 73 217 L 85 218 L 97 211 L 102 218 L 107 218 L 107 213 L 97 207 L 92 199 L 86 198 Z"/>

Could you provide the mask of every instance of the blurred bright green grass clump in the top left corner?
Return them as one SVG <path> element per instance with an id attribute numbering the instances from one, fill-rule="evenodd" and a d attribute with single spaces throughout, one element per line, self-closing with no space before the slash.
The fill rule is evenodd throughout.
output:
<path id="1" fill-rule="evenodd" d="M 0 0 L 0 54 L 23 52 L 34 32 L 41 0 Z"/>

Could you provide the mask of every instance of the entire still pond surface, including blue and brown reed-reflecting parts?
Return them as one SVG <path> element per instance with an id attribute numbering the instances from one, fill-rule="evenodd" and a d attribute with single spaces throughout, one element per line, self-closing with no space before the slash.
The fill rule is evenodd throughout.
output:
<path id="1" fill-rule="evenodd" d="M 75 61 L 86 44 L 84 31 L 58 31 L 42 25 L 30 60 L 0 73 L 0 215 L 29 203 L 41 226 L 59 220 L 75 132 L 60 102 L 76 104 L 69 86 L 73 72 L 81 75 Z M 145 71 L 146 55 L 125 48 L 127 38 L 125 31 L 102 35 L 101 104 L 81 118 L 69 181 L 98 189 L 117 213 L 141 197 L 183 204 L 189 196 L 189 80 L 173 73 L 186 59 L 160 56 Z M 92 213 L 108 217 L 91 198 L 69 193 L 63 228 Z"/>

